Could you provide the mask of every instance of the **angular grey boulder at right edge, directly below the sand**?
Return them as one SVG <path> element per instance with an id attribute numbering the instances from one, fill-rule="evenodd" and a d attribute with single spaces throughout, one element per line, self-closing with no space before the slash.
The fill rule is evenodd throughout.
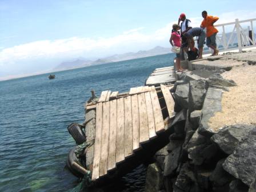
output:
<path id="1" fill-rule="evenodd" d="M 221 148 L 226 154 L 230 155 L 237 147 L 238 142 L 253 130 L 254 126 L 249 125 L 231 125 L 220 129 L 217 134 L 211 137 L 211 140 Z"/>

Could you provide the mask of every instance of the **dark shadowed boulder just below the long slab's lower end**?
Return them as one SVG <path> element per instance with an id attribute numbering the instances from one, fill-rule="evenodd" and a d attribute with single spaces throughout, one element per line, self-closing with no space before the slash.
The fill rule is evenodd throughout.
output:
<path id="1" fill-rule="evenodd" d="M 208 138 L 198 134 L 198 130 L 195 131 L 189 143 L 187 143 L 187 152 L 189 154 L 189 158 L 192 159 L 192 162 L 195 165 L 202 165 L 203 161 L 208 158 L 205 155 L 205 152 L 207 151 L 205 149 L 207 149 L 206 147 L 209 147 L 210 144 L 211 143 L 209 142 Z M 211 153 L 211 151 L 207 152 Z M 214 153 L 211 154 L 211 157 L 214 155 Z"/>

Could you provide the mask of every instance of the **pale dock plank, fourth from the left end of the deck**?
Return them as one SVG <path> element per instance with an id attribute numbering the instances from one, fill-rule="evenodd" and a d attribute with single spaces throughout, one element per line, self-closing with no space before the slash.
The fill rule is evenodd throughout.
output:
<path id="1" fill-rule="evenodd" d="M 117 99 L 117 149 L 115 162 L 125 160 L 125 111 L 123 98 Z"/>

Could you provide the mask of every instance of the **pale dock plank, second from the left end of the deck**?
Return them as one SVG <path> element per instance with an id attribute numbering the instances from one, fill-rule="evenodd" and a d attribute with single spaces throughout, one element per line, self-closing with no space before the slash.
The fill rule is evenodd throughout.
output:
<path id="1" fill-rule="evenodd" d="M 99 177 L 107 174 L 107 156 L 109 151 L 109 102 L 102 103 L 101 160 L 99 161 Z"/>

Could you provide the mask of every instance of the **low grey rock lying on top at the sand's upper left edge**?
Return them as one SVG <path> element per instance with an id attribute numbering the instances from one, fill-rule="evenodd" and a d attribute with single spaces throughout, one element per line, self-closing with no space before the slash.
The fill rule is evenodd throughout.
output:
<path id="1" fill-rule="evenodd" d="M 237 83 L 235 83 L 233 80 L 227 80 L 224 79 L 221 74 L 215 73 L 213 75 L 210 75 L 209 79 L 206 80 L 209 87 L 211 86 L 237 86 Z"/>

